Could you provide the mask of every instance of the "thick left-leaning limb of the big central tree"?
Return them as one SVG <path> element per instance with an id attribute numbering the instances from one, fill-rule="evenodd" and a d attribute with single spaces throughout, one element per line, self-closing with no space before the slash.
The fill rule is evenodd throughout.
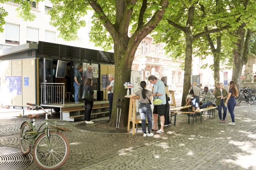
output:
<path id="1" fill-rule="evenodd" d="M 117 36 L 117 31 L 114 28 L 113 24 L 110 22 L 110 20 L 108 19 L 108 17 L 105 15 L 104 11 L 102 10 L 101 6 L 96 2 L 96 0 L 91 0 L 91 2 L 89 3 L 90 6 L 93 8 L 93 10 L 97 13 L 100 14 L 100 20 L 102 21 L 104 27 L 107 29 L 107 31 L 109 32 L 109 34 L 111 34 L 111 36 L 116 37 Z"/>

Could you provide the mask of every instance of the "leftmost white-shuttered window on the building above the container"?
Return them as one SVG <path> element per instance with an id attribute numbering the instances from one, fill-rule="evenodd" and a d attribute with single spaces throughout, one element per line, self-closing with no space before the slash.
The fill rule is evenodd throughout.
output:
<path id="1" fill-rule="evenodd" d="M 6 23 L 5 40 L 9 44 L 20 44 L 20 25 Z"/>

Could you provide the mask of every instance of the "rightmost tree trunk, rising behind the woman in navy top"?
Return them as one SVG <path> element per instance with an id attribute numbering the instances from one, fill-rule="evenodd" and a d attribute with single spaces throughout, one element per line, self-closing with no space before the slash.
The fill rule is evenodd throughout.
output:
<path id="1" fill-rule="evenodd" d="M 244 48 L 244 29 L 239 29 L 233 32 L 233 35 L 238 37 L 238 41 L 235 43 L 236 48 L 233 48 L 233 73 L 232 80 L 235 81 L 236 87 L 239 89 L 241 85 L 241 74 L 243 65 L 246 63 L 243 59 Z"/>

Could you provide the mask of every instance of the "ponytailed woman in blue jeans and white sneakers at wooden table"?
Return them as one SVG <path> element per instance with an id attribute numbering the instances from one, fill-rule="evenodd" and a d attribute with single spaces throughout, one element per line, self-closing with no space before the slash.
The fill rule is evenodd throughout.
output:
<path id="1" fill-rule="evenodd" d="M 151 132 L 152 130 L 152 110 L 149 104 L 149 101 L 152 101 L 152 94 L 151 91 L 145 89 L 147 87 L 147 83 L 145 81 L 140 82 L 140 86 L 142 90 L 139 90 L 131 95 L 131 97 L 140 96 L 140 117 L 142 123 L 142 131 L 143 136 L 153 136 L 154 133 Z M 148 117 L 148 133 L 146 131 L 146 115 Z"/>

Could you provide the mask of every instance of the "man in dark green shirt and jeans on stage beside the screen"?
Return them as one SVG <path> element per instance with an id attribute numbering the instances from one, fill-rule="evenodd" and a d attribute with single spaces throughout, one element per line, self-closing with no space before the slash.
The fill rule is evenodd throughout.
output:
<path id="1" fill-rule="evenodd" d="M 80 91 L 80 86 L 82 84 L 82 77 L 81 77 L 81 71 L 83 71 L 83 67 L 81 65 L 77 66 L 77 69 L 75 70 L 75 81 L 73 83 L 75 87 L 75 103 L 79 104 L 78 96 L 79 96 L 79 91 Z"/>

